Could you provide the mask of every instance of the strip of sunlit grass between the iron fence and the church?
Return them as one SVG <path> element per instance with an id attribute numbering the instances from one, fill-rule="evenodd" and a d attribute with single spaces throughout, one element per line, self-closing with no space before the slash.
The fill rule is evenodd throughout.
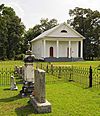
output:
<path id="1" fill-rule="evenodd" d="M 47 62 L 39 62 L 39 64 L 43 64 L 46 66 Z M 98 65 L 100 65 L 100 61 L 80 61 L 80 62 L 52 62 L 53 65 L 72 65 L 72 66 L 78 66 L 78 67 L 90 67 L 96 68 Z M 0 61 L 0 68 L 14 68 L 14 66 L 22 66 L 24 65 L 23 61 Z M 36 67 L 36 63 L 34 63 L 34 66 Z"/>

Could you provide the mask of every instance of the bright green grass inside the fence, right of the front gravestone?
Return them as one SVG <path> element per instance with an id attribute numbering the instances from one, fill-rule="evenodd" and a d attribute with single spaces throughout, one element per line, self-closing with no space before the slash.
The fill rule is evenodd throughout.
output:
<path id="1" fill-rule="evenodd" d="M 99 116 L 100 95 L 69 83 L 48 86 L 48 98 L 56 116 Z"/>

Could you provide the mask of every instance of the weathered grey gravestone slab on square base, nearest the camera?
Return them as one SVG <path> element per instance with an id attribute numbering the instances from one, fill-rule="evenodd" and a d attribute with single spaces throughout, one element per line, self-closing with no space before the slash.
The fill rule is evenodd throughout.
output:
<path id="1" fill-rule="evenodd" d="M 34 96 L 30 96 L 30 102 L 36 113 L 50 113 L 51 104 L 46 100 L 45 71 L 35 70 Z"/>

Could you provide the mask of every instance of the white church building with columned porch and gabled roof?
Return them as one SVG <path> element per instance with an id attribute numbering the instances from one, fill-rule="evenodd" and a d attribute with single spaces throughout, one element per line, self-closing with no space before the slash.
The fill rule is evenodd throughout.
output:
<path id="1" fill-rule="evenodd" d="M 68 24 L 62 23 L 31 40 L 32 53 L 45 61 L 83 59 L 84 39 Z"/>

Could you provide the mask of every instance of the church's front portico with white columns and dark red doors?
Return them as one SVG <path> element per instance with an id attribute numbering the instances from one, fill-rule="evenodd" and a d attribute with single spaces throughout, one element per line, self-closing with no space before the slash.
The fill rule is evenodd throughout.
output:
<path id="1" fill-rule="evenodd" d="M 50 47 L 50 45 L 48 46 L 48 43 L 50 43 L 50 42 L 51 42 L 51 47 Z M 55 44 L 52 45 L 52 42 Z M 79 42 L 80 42 L 80 46 L 79 46 Z M 64 44 L 61 44 L 61 43 L 64 43 Z M 73 46 L 73 43 L 76 43 L 76 47 Z M 43 56 L 44 57 L 59 58 L 62 56 L 62 57 L 67 57 L 67 58 L 71 58 L 71 57 L 83 58 L 83 41 L 43 40 L 43 45 L 44 45 L 43 46 L 43 51 L 44 51 Z M 63 47 L 62 53 L 61 53 L 62 48 L 60 46 Z M 65 51 L 64 54 L 63 54 L 63 51 Z M 76 53 L 76 55 L 74 55 L 74 52 Z M 62 54 L 62 55 L 60 55 L 60 54 Z M 80 56 L 79 56 L 79 54 L 80 54 Z"/>

